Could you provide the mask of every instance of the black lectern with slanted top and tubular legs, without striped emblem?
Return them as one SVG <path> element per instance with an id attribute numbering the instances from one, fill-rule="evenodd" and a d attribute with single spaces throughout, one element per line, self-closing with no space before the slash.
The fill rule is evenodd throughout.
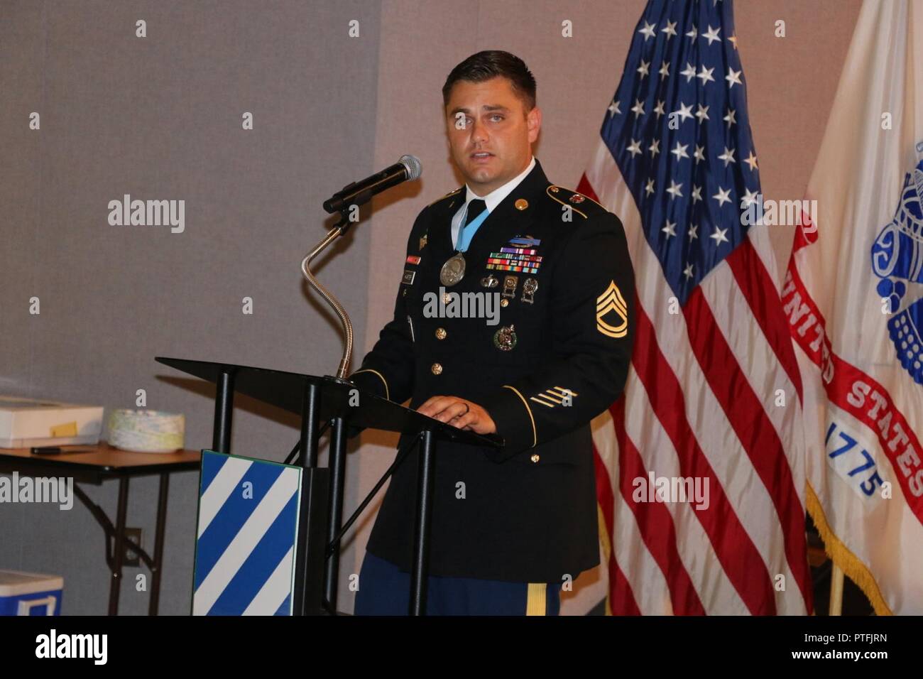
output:
<path id="1" fill-rule="evenodd" d="M 421 446 L 417 474 L 417 509 L 414 520 L 414 564 L 411 575 L 410 613 L 426 613 L 427 548 L 433 494 L 433 466 L 438 441 L 454 441 L 499 448 L 501 438 L 482 436 L 427 418 L 415 410 L 369 394 L 352 382 L 283 370 L 230 363 L 163 358 L 156 360 L 202 380 L 214 382 L 215 419 L 212 450 L 231 452 L 234 392 L 281 407 L 301 416 L 301 436 L 296 446 L 304 469 L 299 507 L 298 553 L 295 556 L 294 612 L 296 615 L 336 612 L 340 570 L 340 540 L 367 503 L 401 464 L 412 447 L 399 452 L 388 473 L 378 481 L 349 521 L 342 525 L 343 485 L 346 465 L 346 428 L 398 431 Z M 322 423 L 326 422 L 325 425 Z M 318 441 L 330 429 L 330 467 L 318 467 Z M 326 558 L 325 558 L 326 557 Z"/>

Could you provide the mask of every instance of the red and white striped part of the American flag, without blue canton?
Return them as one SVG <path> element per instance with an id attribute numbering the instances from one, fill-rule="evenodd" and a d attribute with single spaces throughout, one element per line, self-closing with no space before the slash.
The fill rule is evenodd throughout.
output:
<path id="1" fill-rule="evenodd" d="M 612 612 L 809 612 L 801 383 L 765 239 L 748 236 L 677 313 L 602 140 L 578 190 L 618 215 L 636 276 L 625 394 L 593 426 Z M 708 479 L 708 506 L 635 502 L 652 471 Z"/>

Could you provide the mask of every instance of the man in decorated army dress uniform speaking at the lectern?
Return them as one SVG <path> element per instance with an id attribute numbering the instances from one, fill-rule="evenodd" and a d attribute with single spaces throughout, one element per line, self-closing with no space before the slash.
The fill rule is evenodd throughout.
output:
<path id="1" fill-rule="evenodd" d="M 634 273 L 617 217 L 533 157 L 542 113 L 519 57 L 472 55 L 442 95 L 465 186 L 417 216 L 394 318 L 352 380 L 506 442 L 438 444 L 426 612 L 554 615 L 599 564 L 590 420 L 625 385 Z M 356 614 L 408 612 L 416 469 L 414 452 L 391 479 Z"/>

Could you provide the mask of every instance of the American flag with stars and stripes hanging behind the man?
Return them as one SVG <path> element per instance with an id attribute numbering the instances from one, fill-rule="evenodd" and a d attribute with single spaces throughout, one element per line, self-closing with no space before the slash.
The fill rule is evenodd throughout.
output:
<path id="1" fill-rule="evenodd" d="M 625 393 L 593 422 L 607 612 L 804 614 L 801 382 L 764 226 L 730 0 L 651 0 L 579 190 L 625 225 Z M 709 503 L 635 479 L 707 479 Z M 605 527 L 604 527 L 605 526 Z"/>

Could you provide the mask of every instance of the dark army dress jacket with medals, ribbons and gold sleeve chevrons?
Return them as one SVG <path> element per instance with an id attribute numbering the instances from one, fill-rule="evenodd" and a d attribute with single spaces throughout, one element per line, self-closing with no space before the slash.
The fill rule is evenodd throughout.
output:
<path id="1" fill-rule="evenodd" d="M 617 400 L 629 369 L 625 233 L 595 201 L 548 182 L 536 160 L 474 234 L 462 280 L 445 286 L 464 191 L 417 216 L 394 317 L 351 379 L 411 408 L 434 395 L 472 401 L 505 441 L 498 454 L 438 442 L 431 576 L 560 583 L 599 564 L 590 420 Z M 497 295 L 497 324 L 434 316 L 440 286 Z M 395 471 L 367 545 L 408 572 L 417 455 Z"/>

